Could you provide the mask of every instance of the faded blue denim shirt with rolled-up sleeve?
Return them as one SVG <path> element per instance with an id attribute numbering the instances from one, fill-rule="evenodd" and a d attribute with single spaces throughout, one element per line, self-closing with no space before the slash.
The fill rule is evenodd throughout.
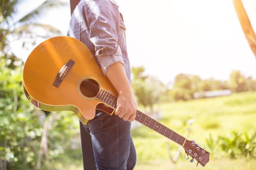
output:
<path id="1" fill-rule="evenodd" d="M 121 62 L 130 82 L 125 30 L 123 17 L 114 0 L 80 0 L 72 13 L 67 36 L 88 47 L 105 76 L 111 64 Z"/>

